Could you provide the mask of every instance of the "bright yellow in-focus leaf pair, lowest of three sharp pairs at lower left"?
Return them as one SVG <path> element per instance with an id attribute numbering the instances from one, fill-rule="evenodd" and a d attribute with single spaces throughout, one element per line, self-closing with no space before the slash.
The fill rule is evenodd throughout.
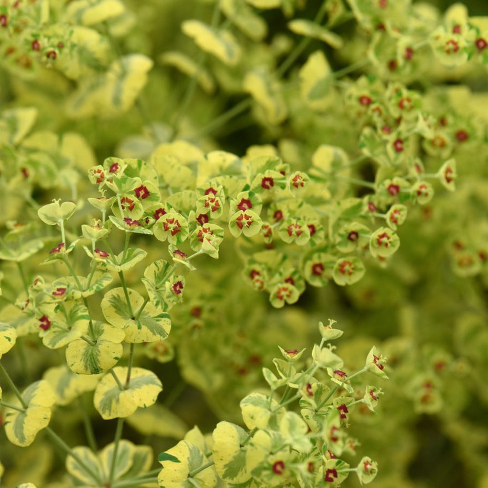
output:
<path id="1" fill-rule="evenodd" d="M 120 383 L 125 385 L 127 368 L 117 366 L 113 368 L 113 372 Z M 111 374 L 103 376 L 95 388 L 93 402 L 95 408 L 105 420 L 128 417 L 138 407 L 153 405 L 162 390 L 161 381 L 152 371 L 134 367 L 131 370 L 128 387 L 122 390 Z"/>

